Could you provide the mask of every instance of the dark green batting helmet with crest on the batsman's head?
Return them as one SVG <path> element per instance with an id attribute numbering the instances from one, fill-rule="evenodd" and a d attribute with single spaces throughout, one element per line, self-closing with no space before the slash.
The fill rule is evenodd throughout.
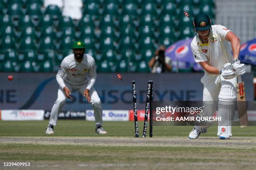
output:
<path id="1" fill-rule="evenodd" d="M 197 31 L 209 30 L 212 26 L 211 19 L 206 13 L 199 13 L 194 18 L 194 26 Z"/>

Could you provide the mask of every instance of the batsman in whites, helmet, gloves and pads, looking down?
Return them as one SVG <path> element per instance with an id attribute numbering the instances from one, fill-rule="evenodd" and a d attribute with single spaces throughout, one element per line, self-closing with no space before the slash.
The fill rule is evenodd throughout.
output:
<path id="1" fill-rule="evenodd" d="M 245 65 L 240 64 L 240 40 L 222 25 L 212 25 L 210 17 L 200 13 L 194 18 L 196 36 L 191 42 L 194 59 L 204 69 L 201 82 L 203 89 L 203 111 L 197 116 L 212 116 L 218 105 L 218 137 L 229 139 L 231 120 L 235 112 L 237 76 L 245 73 Z M 233 51 L 233 55 L 231 53 Z M 195 122 L 189 139 L 197 139 L 212 125 L 210 121 Z"/>

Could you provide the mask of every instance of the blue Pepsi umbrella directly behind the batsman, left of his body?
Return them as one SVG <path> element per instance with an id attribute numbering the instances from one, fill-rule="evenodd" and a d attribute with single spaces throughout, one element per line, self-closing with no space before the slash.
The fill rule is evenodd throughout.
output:
<path id="1" fill-rule="evenodd" d="M 165 55 L 170 57 L 174 68 L 188 70 L 193 67 L 194 70 L 202 70 L 202 67 L 195 62 L 190 43 L 193 38 L 179 40 L 168 47 Z"/>

